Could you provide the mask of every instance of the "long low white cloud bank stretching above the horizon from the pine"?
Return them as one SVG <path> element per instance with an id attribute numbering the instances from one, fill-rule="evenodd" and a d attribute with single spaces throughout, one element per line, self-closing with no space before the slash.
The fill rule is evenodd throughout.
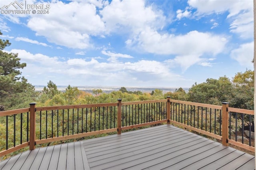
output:
<path id="1" fill-rule="evenodd" d="M 172 79 L 185 81 L 181 76 L 170 71 L 168 63 L 160 61 L 140 60 L 136 62 L 99 62 L 96 59 L 81 58 L 63 61 L 61 57 L 50 57 L 40 53 L 30 53 L 21 49 L 12 49 L 18 53 L 21 62 L 27 66 L 22 69 L 30 83 L 46 84 L 49 80 L 57 81 L 58 85 L 104 85 L 106 86 L 158 86 L 159 81 L 170 84 Z M 116 56 L 122 54 L 110 53 Z M 126 56 L 127 57 L 127 56 Z M 38 78 L 40 77 L 40 78 Z M 187 80 L 186 80 L 187 81 Z"/>

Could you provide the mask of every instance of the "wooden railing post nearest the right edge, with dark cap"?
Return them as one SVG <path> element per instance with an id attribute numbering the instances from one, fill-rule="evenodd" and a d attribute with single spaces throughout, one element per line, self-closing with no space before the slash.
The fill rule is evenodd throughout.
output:
<path id="1" fill-rule="evenodd" d="M 222 102 L 222 144 L 228 146 L 228 102 Z"/>

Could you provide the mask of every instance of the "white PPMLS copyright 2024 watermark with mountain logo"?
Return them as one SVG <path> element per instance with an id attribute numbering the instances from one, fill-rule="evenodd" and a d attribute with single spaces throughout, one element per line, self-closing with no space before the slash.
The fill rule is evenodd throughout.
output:
<path id="1" fill-rule="evenodd" d="M 17 1 L 5 4 L 0 8 L 1 14 L 49 14 L 50 4 L 25 4 Z"/>

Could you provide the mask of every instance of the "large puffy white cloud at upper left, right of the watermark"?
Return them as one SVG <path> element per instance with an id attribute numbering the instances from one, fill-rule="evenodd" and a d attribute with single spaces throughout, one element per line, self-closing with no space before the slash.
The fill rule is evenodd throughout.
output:
<path id="1" fill-rule="evenodd" d="M 104 22 L 94 4 L 56 1 L 50 4 L 49 11 L 47 15 L 32 16 L 27 24 L 36 35 L 46 37 L 49 42 L 86 49 L 92 47 L 90 36 L 104 32 Z"/>

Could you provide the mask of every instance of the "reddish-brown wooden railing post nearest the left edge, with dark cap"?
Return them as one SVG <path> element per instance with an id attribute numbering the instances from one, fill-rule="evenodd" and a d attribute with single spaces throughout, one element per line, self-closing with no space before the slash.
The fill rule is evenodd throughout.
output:
<path id="1" fill-rule="evenodd" d="M 36 103 L 29 103 L 30 105 L 30 133 L 29 133 L 29 150 L 34 150 L 36 141 Z"/>

